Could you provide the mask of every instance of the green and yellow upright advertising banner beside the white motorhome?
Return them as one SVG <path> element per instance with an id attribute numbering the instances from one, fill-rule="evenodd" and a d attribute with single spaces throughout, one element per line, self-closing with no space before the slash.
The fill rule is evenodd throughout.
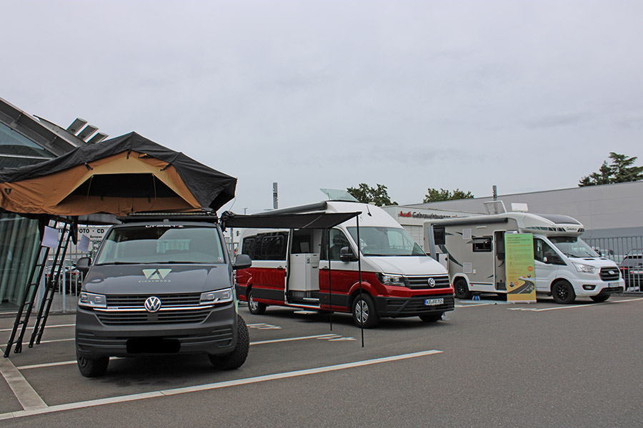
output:
<path id="1" fill-rule="evenodd" d="M 534 236 L 531 233 L 505 233 L 507 302 L 536 302 Z"/>

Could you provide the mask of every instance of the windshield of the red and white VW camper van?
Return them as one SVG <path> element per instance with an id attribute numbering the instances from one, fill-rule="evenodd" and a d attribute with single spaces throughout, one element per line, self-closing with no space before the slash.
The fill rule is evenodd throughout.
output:
<path id="1" fill-rule="evenodd" d="M 357 228 L 347 228 L 357 243 Z M 359 249 L 364 255 L 424 255 L 424 251 L 403 228 L 359 228 Z M 427 256 L 428 257 L 428 256 Z"/>

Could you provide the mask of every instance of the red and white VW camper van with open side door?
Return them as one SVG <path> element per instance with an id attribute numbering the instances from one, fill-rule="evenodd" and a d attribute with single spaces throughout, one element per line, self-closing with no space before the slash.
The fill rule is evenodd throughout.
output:
<path id="1" fill-rule="evenodd" d="M 447 270 L 381 208 L 327 201 L 270 213 L 314 212 L 355 213 L 359 223 L 353 217 L 326 229 L 286 226 L 241 235 L 239 251 L 252 266 L 236 271 L 236 292 L 250 312 L 261 314 L 268 305 L 347 312 L 369 328 L 380 317 L 435 322 L 453 310 Z"/>

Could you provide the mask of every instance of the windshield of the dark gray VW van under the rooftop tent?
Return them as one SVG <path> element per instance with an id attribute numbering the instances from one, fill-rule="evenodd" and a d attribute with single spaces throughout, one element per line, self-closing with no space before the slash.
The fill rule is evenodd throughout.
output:
<path id="1" fill-rule="evenodd" d="M 96 265 L 139 263 L 224 263 L 216 228 L 144 225 L 114 228 Z"/>

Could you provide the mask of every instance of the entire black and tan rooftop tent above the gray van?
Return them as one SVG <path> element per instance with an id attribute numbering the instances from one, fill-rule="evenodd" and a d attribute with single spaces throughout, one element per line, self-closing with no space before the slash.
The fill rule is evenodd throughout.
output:
<path id="1" fill-rule="evenodd" d="M 235 188 L 236 178 L 132 132 L 0 170 L 0 208 L 50 215 L 218 210 Z"/>

